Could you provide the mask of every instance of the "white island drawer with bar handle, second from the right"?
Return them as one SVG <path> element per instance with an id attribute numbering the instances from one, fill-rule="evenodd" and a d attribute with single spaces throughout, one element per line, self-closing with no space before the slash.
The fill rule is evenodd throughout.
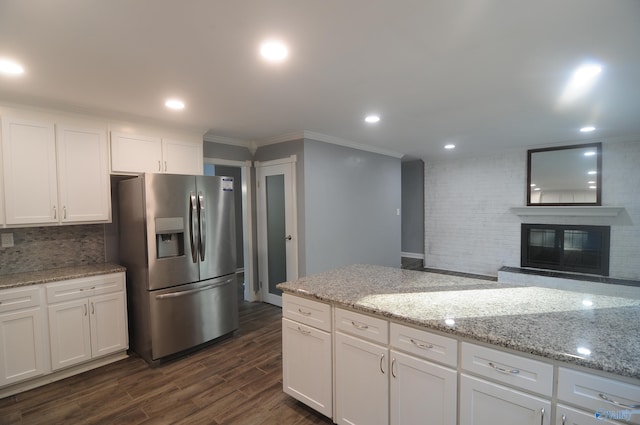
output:
<path id="1" fill-rule="evenodd" d="M 464 342 L 462 368 L 499 382 L 551 396 L 553 366 L 547 363 Z"/>

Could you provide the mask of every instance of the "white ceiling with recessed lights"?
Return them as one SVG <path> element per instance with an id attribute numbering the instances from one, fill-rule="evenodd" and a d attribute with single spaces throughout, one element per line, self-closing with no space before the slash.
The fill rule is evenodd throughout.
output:
<path id="1" fill-rule="evenodd" d="M 260 58 L 268 37 L 285 63 Z M 25 68 L 0 100 L 241 140 L 427 158 L 640 135 L 639 0 L 0 0 L 0 57 Z M 598 81 L 561 104 L 588 61 Z"/>

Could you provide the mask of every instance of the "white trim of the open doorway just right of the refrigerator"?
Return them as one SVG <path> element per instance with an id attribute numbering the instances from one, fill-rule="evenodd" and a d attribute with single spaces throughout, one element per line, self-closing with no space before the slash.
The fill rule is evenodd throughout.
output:
<path id="1" fill-rule="evenodd" d="M 252 205 L 252 189 L 250 184 L 252 161 L 233 161 L 220 158 L 204 158 L 205 164 L 224 165 L 227 167 L 240 168 L 240 177 L 242 184 L 242 251 L 244 255 L 244 299 L 247 301 L 258 301 L 260 298 L 259 289 L 255 285 L 255 272 L 253 263 L 253 221 L 251 217 Z"/>

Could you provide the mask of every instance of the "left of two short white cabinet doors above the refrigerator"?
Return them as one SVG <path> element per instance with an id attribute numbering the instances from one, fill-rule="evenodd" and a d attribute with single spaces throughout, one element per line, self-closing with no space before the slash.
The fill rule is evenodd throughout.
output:
<path id="1" fill-rule="evenodd" d="M 162 141 L 159 137 L 111 133 L 111 171 L 162 172 Z"/>

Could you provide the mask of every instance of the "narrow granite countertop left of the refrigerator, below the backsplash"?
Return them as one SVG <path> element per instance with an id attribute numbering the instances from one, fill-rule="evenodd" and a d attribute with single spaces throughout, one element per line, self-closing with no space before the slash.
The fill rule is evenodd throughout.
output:
<path id="1" fill-rule="evenodd" d="M 126 271 L 126 268 L 118 264 L 99 263 L 42 270 L 37 272 L 14 273 L 0 276 L 0 289 L 37 285 L 39 283 L 56 282 L 59 280 L 76 279 L 80 277 L 97 276 L 124 271 Z"/>

